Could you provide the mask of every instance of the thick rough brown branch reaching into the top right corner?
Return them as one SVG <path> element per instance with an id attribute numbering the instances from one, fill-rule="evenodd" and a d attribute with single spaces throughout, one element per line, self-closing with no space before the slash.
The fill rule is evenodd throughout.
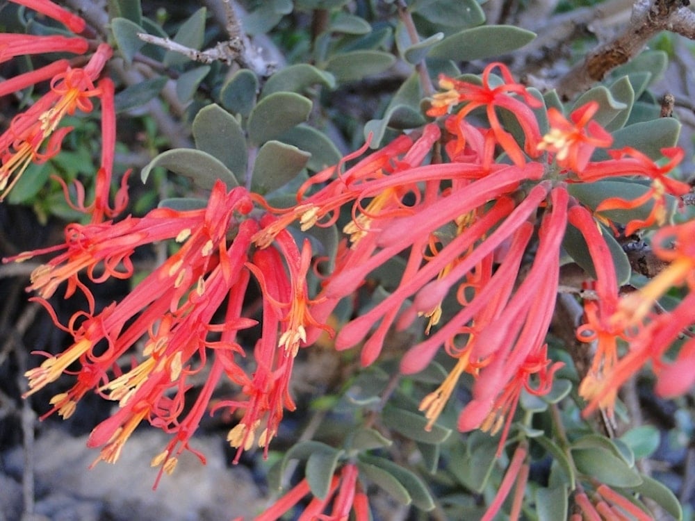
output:
<path id="1" fill-rule="evenodd" d="M 587 90 L 611 69 L 635 56 L 660 31 L 672 31 L 695 38 L 695 13 L 685 7 L 687 0 L 637 0 L 630 24 L 614 40 L 600 45 L 566 74 L 557 85 L 565 99 Z"/>

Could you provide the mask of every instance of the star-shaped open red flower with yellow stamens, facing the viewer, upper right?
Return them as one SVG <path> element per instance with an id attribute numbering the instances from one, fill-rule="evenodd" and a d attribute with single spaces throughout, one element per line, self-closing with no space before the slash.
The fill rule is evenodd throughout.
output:
<path id="1" fill-rule="evenodd" d="M 550 131 L 543 136 L 538 149 L 552 152 L 560 167 L 580 175 L 594 150 L 610 147 L 613 142 L 612 135 L 591 119 L 597 111 L 598 103 L 589 101 L 574 110 L 568 120 L 557 108 L 548 108 Z"/>

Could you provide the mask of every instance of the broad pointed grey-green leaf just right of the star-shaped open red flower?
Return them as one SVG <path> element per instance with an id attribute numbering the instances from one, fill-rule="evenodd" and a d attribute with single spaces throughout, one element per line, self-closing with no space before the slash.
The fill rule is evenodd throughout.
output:
<path id="1" fill-rule="evenodd" d="M 613 149 L 632 147 L 652 159 L 662 157 L 661 149 L 675 147 L 680 135 L 680 123 L 673 117 L 661 117 L 653 121 L 624 126 L 613 133 Z M 591 160 L 608 158 L 603 149 L 596 151 Z"/>

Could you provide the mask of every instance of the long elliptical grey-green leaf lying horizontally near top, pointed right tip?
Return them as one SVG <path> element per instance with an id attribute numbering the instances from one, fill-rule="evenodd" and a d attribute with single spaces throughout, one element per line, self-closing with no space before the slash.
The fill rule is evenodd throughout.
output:
<path id="1" fill-rule="evenodd" d="M 536 34 L 511 25 L 464 29 L 432 47 L 429 56 L 445 60 L 481 60 L 509 53 L 536 38 Z"/>

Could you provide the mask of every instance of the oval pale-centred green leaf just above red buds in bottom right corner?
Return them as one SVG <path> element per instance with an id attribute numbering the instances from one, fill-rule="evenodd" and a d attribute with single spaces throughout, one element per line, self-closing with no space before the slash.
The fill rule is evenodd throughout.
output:
<path id="1" fill-rule="evenodd" d="M 572 449 L 572 458 L 577 470 L 607 486 L 635 487 L 642 479 L 628 467 L 623 458 L 616 456 L 609 449 L 593 447 L 591 449 Z"/>

